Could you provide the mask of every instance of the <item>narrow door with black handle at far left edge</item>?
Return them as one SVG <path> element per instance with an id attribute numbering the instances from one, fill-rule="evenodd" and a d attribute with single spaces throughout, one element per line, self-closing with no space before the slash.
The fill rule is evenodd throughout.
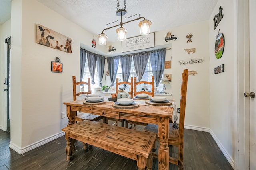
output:
<path id="1" fill-rule="evenodd" d="M 6 131 L 11 132 L 11 112 L 10 112 L 10 57 L 11 57 L 11 37 L 5 39 L 6 43 L 6 78 L 4 91 L 6 92 Z"/>

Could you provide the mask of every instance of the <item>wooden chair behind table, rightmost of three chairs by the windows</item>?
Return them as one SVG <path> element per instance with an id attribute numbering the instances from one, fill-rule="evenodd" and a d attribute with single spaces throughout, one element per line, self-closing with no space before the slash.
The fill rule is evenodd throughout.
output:
<path id="1" fill-rule="evenodd" d="M 140 85 L 140 84 L 145 84 L 145 85 L 149 84 L 149 85 L 151 85 L 151 92 L 148 92 L 148 90 L 146 90 L 146 91 L 141 90 L 141 91 L 136 92 L 136 90 L 137 90 L 136 86 Z M 149 81 L 136 82 L 136 77 L 134 77 L 134 96 L 136 96 L 137 94 L 142 94 L 142 93 L 145 93 L 145 94 L 151 95 L 151 97 L 154 97 L 154 76 L 152 76 L 151 82 L 149 82 Z M 125 121 L 125 126 L 127 128 L 136 129 L 136 125 L 146 126 L 147 123 L 136 122 L 136 121 Z"/>

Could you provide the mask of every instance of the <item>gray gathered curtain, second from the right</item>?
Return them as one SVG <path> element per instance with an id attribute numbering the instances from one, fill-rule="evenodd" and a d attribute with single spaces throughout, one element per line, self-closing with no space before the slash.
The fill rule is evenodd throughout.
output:
<path id="1" fill-rule="evenodd" d="M 142 53 L 136 53 L 133 55 L 133 62 L 138 77 L 138 82 L 142 79 L 142 76 L 146 70 L 149 54 L 150 53 L 146 51 Z"/>

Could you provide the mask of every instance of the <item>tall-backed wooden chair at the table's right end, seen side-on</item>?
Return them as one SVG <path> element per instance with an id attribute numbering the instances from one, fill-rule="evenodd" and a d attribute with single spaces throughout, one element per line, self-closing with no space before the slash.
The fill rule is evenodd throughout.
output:
<path id="1" fill-rule="evenodd" d="M 183 170 L 183 141 L 184 141 L 184 121 L 186 109 L 186 96 L 188 85 L 188 69 L 183 70 L 181 82 L 181 98 L 180 98 L 180 119 L 178 127 L 173 126 L 174 123 L 169 123 L 169 138 L 168 145 L 178 147 L 178 158 L 169 157 L 169 162 L 178 165 L 178 170 Z M 156 141 L 158 138 L 158 125 L 148 124 L 144 131 L 156 133 Z M 153 152 L 153 156 L 158 158 L 158 153 Z"/>

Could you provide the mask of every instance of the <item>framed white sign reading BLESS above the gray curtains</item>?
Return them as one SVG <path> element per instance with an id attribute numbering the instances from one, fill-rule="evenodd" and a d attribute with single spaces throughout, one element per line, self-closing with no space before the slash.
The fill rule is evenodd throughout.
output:
<path id="1" fill-rule="evenodd" d="M 155 47 L 155 33 L 128 38 L 122 41 L 122 53 Z"/>

